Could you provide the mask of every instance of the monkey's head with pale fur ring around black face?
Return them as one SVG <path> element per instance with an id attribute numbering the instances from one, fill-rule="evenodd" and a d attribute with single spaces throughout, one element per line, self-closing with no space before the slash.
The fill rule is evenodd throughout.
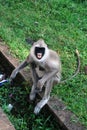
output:
<path id="1" fill-rule="evenodd" d="M 31 55 L 37 61 L 42 61 L 47 58 L 49 49 L 43 39 L 35 42 L 31 48 Z"/>

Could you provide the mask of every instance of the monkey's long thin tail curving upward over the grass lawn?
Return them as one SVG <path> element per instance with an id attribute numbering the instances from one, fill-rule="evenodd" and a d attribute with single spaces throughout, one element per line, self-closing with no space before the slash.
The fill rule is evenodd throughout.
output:
<path id="1" fill-rule="evenodd" d="M 80 70 L 80 56 L 79 56 L 79 51 L 76 49 L 75 53 L 76 53 L 76 56 L 77 56 L 77 69 L 76 69 L 75 73 L 70 78 L 67 78 L 67 79 L 65 79 L 63 81 L 60 81 L 59 84 L 66 83 L 68 80 L 73 79 L 79 73 L 79 70 Z"/>

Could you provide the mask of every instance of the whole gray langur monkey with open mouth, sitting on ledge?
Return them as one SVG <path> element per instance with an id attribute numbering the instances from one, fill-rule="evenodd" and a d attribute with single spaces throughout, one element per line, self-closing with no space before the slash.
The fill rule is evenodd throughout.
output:
<path id="1" fill-rule="evenodd" d="M 78 52 L 76 53 L 79 61 Z M 30 49 L 30 54 L 26 60 L 22 62 L 15 70 L 13 70 L 10 81 L 12 81 L 17 73 L 30 64 L 33 85 L 30 92 L 30 100 L 34 100 L 36 93 L 42 90 L 45 86 L 45 92 L 42 100 L 37 103 L 34 113 L 38 114 L 41 108 L 48 102 L 52 86 L 55 83 L 63 83 L 61 80 L 61 61 L 58 54 L 48 49 L 44 40 L 40 39 L 33 44 Z M 79 72 L 80 62 L 78 63 L 77 71 L 72 78 Z M 70 78 L 71 79 L 71 78 Z"/>

